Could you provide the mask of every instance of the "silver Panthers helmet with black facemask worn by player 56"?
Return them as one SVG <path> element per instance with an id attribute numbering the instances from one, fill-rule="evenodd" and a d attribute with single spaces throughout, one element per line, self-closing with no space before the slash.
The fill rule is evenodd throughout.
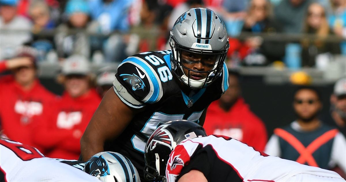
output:
<path id="1" fill-rule="evenodd" d="M 229 48 L 224 22 L 210 9 L 191 8 L 174 23 L 169 44 L 172 48 L 171 65 L 173 73 L 190 88 L 199 89 L 210 85 L 221 75 L 224 60 Z M 181 63 L 181 51 L 198 54 L 216 55 L 214 67 L 209 71 L 197 71 Z M 185 75 L 183 68 L 188 69 Z M 190 72 L 208 73 L 201 80 L 190 78 Z"/>

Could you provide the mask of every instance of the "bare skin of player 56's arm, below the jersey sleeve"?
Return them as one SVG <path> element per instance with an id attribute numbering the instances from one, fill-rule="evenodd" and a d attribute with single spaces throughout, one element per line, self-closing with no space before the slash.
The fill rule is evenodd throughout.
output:
<path id="1" fill-rule="evenodd" d="M 83 161 L 102 152 L 104 142 L 120 135 L 135 113 L 135 109 L 124 104 L 113 88 L 110 88 L 102 98 L 81 138 Z"/>

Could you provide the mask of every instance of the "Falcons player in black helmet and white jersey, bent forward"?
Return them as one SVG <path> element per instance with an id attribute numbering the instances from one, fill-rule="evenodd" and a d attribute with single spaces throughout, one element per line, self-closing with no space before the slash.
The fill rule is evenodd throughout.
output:
<path id="1" fill-rule="evenodd" d="M 191 121 L 158 127 L 145 146 L 147 181 L 343 181 L 336 172 L 268 156 Z"/>

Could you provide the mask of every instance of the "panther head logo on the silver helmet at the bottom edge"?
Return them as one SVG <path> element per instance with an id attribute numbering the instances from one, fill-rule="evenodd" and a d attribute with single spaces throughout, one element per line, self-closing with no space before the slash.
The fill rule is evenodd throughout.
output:
<path id="1" fill-rule="evenodd" d="M 106 160 L 103 159 L 102 155 L 96 157 L 93 156 L 90 158 L 88 162 L 85 163 L 85 169 L 89 169 L 89 171 L 85 171 L 86 173 L 96 176 L 96 177 L 102 177 L 109 174 L 109 167 L 106 162 Z"/>

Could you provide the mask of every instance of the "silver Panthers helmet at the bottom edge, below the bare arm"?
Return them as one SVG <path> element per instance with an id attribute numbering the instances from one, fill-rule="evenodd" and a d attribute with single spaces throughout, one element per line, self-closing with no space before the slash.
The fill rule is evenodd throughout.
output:
<path id="1" fill-rule="evenodd" d="M 84 172 L 104 182 L 140 182 L 136 167 L 116 152 L 100 152 L 86 161 Z"/>

